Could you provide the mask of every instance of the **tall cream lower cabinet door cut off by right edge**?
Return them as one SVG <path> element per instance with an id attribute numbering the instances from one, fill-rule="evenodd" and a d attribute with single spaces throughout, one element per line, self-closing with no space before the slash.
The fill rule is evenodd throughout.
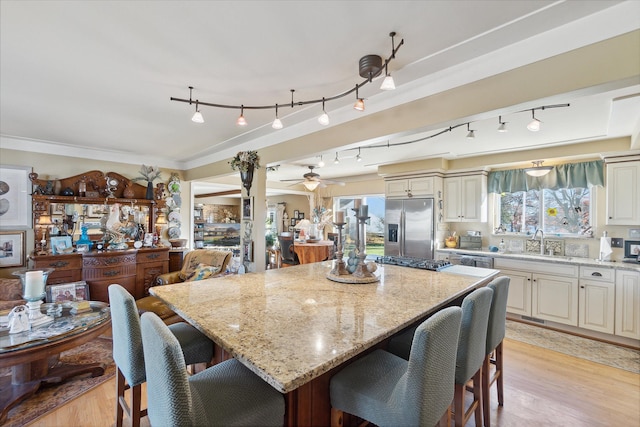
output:
<path id="1" fill-rule="evenodd" d="M 640 273 L 616 271 L 615 334 L 640 339 Z"/>

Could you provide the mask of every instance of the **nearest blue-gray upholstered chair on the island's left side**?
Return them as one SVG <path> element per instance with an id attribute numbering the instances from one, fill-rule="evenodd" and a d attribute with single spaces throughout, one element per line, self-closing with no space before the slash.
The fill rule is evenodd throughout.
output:
<path id="1" fill-rule="evenodd" d="M 284 396 L 236 359 L 189 377 L 180 344 L 154 313 L 141 317 L 153 426 L 276 426 Z"/>

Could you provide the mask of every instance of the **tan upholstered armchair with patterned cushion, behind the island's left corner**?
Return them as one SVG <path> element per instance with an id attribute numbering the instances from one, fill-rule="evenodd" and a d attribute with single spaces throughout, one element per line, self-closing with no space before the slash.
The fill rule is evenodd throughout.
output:
<path id="1" fill-rule="evenodd" d="M 159 275 L 156 279 L 156 286 L 220 276 L 224 274 L 229 261 L 231 261 L 231 251 L 193 250 L 185 255 L 181 270 Z M 180 316 L 153 295 L 137 300 L 136 306 L 140 314 L 151 311 L 157 314 L 167 325 L 182 321 Z"/>

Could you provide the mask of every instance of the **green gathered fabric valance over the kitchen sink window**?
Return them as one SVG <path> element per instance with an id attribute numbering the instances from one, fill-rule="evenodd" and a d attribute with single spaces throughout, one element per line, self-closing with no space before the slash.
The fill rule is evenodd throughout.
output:
<path id="1" fill-rule="evenodd" d="M 488 190 L 490 193 L 515 193 L 516 191 L 558 190 L 560 188 L 589 188 L 604 186 L 604 162 L 567 163 L 554 166 L 542 177 L 533 177 L 524 169 L 490 172 Z"/>

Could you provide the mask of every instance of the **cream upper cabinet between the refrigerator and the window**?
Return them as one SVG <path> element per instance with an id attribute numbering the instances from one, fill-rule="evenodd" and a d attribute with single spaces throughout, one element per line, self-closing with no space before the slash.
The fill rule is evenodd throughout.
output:
<path id="1" fill-rule="evenodd" d="M 444 178 L 444 221 L 487 221 L 487 175 L 485 172 Z"/>

